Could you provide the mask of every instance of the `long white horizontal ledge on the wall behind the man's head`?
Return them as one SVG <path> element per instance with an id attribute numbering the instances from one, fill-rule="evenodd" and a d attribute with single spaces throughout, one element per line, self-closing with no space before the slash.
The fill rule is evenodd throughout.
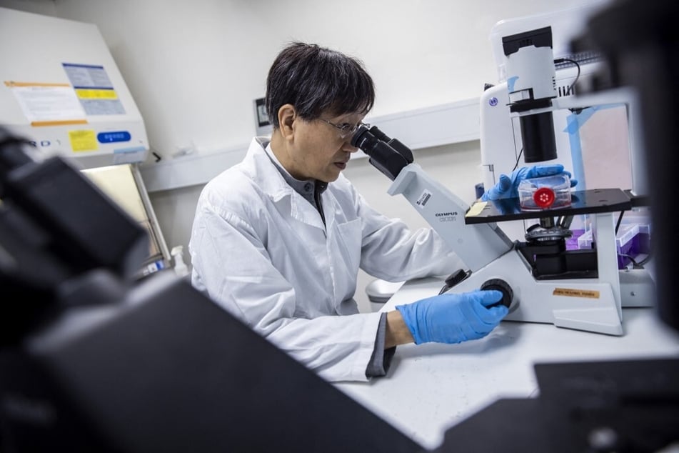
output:
<path id="1" fill-rule="evenodd" d="M 428 148 L 479 139 L 478 98 L 368 117 L 388 136 L 411 149 Z M 230 166 L 243 160 L 248 145 L 235 146 L 204 154 L 190 154 L 176 159 L 139 166 L 149 192 L 206 184 Z M 362 152 L 356 158 L 365 157 Z"/>

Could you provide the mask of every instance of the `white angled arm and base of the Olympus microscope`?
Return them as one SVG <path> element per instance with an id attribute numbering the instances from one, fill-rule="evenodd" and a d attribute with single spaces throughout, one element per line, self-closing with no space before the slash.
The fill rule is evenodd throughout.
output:
<path id="1" fill-rule="evenodd" d="M 501 279 L 513 294 L 507 320 L 623 334 L 615 229 L 610 212 L 595 214 L 597 278 L 537 280 L 518 248 L 496 224 L 466 224 L 468 205 L 433 181 L 418 164 L 405 166 L 388 193 L 405 196 L 472 271 L 454 285 L 455 292 L 473 291 L 491 279 Z"/>

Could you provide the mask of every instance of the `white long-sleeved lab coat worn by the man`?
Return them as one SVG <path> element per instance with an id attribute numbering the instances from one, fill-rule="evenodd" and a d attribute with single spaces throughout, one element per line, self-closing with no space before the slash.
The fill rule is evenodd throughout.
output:
<path id="1" fill-rule="evenodd" d="M 245 159 L 203 189 L 191 282 L 321 377 L 366 381 L 381 314 L 358 314 L 358 267 L 398 282 L 450 274 L 461 262 L 433 230 L 410 232 L 372 209 L 342 175 L 322 194 L 324 227 L 267 144 L 253 139 Z"/>

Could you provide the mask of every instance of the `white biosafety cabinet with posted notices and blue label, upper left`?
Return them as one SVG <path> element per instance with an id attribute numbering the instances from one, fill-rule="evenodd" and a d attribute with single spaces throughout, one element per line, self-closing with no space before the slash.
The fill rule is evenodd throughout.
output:
<path id="1" fill-rule="evenodd" d="M 137 164 L 142 119 L 94 24 L 0 8 L 0 127 L 78 166 L 149 232 L 147 274 L 169 265 Z"/>

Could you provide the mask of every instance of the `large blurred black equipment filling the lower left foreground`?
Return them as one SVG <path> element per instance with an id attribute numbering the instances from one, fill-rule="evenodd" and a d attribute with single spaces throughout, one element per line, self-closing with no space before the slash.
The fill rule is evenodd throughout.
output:
<path id="1" fill-rule="evenodd" d="M 418 452 L 175 276 L 60 158 L 0 132 L 3 452 Z"/>

